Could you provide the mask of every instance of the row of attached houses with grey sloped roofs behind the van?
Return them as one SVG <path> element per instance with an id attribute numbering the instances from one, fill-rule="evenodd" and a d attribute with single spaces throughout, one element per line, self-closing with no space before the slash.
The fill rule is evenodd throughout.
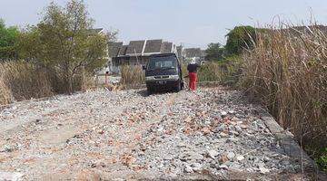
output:
<path id="1" fill-rule="evenodd" d="M 166 52 L 177 53 L 177 48 L 173 43 L 162 39 L 131 41 L 128 44 L 109 43 L 109 70 L 119 73 L 122 65 L 144 65 L 150 55 Z"/>

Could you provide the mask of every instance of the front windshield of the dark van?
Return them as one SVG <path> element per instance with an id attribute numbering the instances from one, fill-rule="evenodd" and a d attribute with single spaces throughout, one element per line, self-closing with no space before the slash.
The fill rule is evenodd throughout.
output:
<path id="1" fill-rule="evenodd" d="M 174 56 L 153 57 L 149 61 L 148 70 L 175 69 L 177 60 Z"/>

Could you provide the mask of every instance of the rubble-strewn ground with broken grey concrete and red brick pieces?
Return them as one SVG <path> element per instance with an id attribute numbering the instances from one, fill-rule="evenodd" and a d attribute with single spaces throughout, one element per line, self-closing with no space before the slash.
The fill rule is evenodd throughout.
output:
<path id="1" fill-rule="evenodd" d="M 0 111 L 0 180 L 301 178 L 259 109 L 223 88 L 16 102 Z"/>

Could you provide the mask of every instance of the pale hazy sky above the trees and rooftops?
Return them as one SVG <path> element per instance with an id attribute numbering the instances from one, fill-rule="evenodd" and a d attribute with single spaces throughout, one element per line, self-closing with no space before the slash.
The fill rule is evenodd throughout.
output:
<path id="1" fill-rule="evenodd" d="M 8 25 L 36 24 L 51 0 L 0 0 Z M 66 0 L 54 0 L 64 5 Z M 327 24 L 326 0 L 85 0 L 95 27 L 119 30 L 119 40 L 164 39 L 188 47 L 225 43 L 235 25 L 271 24 L 280 16 L 308 23 L 311 12 Z"/>

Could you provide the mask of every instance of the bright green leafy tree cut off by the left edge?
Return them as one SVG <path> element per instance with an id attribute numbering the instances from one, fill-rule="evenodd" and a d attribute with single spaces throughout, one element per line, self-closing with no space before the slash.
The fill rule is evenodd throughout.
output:
<path id="1" fill-rule="evenodd" d="M 5 27 L 5 22 L 0 19 L 0 60 L 17 58 L 15 44 L 18 37 L 16 27 Z"/>

